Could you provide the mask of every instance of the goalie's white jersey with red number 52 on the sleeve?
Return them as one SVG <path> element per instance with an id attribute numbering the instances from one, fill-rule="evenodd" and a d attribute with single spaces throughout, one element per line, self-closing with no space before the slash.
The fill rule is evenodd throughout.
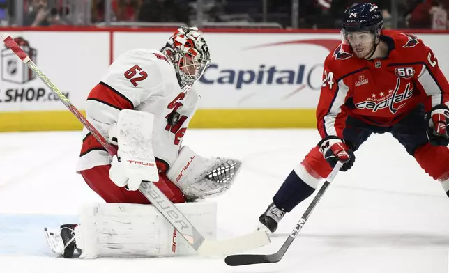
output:
<path id="1" fill-rule="evenodd" d="M 172 63 L 160 51 L 135 49 L 119 56 L 89 93 L 86 118 L 107 137 L 122 109 L 150 112 L 154 115 L 154 155 L 171 166 L 198 100 L 195 89 L 181 90 Z M 111 157 L 105 148 L 86 128 L 83 134 L 77 171 L 109 164 Z"/>

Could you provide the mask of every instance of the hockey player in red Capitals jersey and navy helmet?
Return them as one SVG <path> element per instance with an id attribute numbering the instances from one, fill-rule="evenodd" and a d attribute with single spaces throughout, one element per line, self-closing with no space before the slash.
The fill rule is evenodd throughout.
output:
<path id="1" fill-rule="evenodd" d="M 341 171 L 351 169 L 356 150 L 373 133 L 392 134 L 449 196 L 448 81 L 422 40 L 382 25 L 372 3 L 354 3 L 344 12 L 342 44 L 324 61 L 317 107 L 322 139 L 259 217 L 262 228 L 274 232 L 337 161 L 344 163 Z"/>

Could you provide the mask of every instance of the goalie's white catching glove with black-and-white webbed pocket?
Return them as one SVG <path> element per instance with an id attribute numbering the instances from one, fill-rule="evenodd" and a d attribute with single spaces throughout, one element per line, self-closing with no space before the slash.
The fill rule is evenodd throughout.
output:
<path id="1" fill-rule="evenodd" d="M 241 162 L 228 158 L 206 158 L 183 146 L 167 178 L 172 180 L 188 200 L 218 196 L 234 182 Z"/>

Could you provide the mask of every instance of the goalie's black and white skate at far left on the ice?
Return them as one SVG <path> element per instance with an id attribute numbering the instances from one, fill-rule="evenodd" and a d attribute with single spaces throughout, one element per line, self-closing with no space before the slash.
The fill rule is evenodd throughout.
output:
<path id="1" fill-rule="evenodd" d="M 75 252 L 75 232 L 77 225 L 65 224 L 60 229 L 45 228 L 45 237 L 48 245 L 54 253 L 61 254 L 64 258 L 72 258 Z"/>

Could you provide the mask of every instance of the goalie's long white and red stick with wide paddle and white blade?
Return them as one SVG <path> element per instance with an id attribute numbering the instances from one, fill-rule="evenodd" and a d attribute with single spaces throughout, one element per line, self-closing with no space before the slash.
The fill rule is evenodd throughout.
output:
<path id="1" fill-rule="evenodd" d="M 17 42 L 8 34 L 3 33 L 0 40 L 5 43 L 16 55 L 20 58 L 33 72 L 38 75 L 39 79 L 55 93 L 59 100 L 74 114 L 79 122 L 91 132 L 98 142 L 107 150 L 109 155 L 116 155 L 117 150 L 109 144 L 105 137 L 103 137 L 98 130 L 96 130 L 91 123 L 78 111 L 78 109 L 66 98 L 59 90 L 53 81 L 45 75 L 45 73 L 38 68 L 38 66 L 31 61 L 29 56 L 17 45 Z M 176 230 L 189 242 L 189 244 L 199 254 L 204 256 L 225 256 L 231 253 L 238 253 L 262 247 L 270 242 L 270 239 L 265 231 L 254 231 L 247 235 L 235 237 L 229 240 L 215 241 L 207 240 L 195 226 L 176 208 L 176 206 L 169 201 L 167 196 L 163 194 L 153 182 L 144 182 L 139 187 L 139 191 L 151 202 L 154 207 L 169 221 Z"/>

